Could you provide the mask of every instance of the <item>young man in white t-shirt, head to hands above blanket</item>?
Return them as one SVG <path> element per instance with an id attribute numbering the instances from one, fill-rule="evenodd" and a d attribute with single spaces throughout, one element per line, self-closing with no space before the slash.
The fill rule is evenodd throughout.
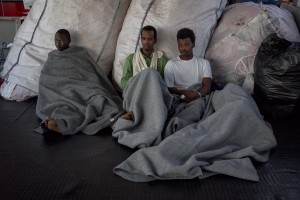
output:
<path id="1" fill-rule="evenodd" d="M 179 95 L 186 102 L 204 97 L 210 92 L 212 73 L 208 60 L 195 57 L 195 34 L 191 29 L 183 28 L 177 32 L 177 44 L 180 55 L 169 60 L 165 66 L 165 83 L 172 94 Z M 199 90 L 188 89 L 201 83 Z"/>

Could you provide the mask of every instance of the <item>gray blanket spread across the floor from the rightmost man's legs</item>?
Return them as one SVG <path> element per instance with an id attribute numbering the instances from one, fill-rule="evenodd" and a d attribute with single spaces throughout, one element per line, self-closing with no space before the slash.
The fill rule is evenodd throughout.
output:
<path id="1" fill-rule="evenodd" d="M 157 146 L 139 149 L 115 167 L 114 173 L 135 182 L 214 174 L 258 181 L 251 159 L 267 162 L 277 143 L 256 103 L 234 84 L 213 92 L 206 100 L 202 120 Z"/>

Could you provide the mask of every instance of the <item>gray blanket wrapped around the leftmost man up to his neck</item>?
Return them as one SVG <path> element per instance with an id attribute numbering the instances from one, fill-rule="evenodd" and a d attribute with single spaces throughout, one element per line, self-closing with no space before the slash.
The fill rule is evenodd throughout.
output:
<path id="1" fill-rule="evenodd" d="M 122 99 L 85 49 L 49 53 L 39 80 L 39 118 L 54 118 L 64 135 L 92 135 L 120 113 Z"/>

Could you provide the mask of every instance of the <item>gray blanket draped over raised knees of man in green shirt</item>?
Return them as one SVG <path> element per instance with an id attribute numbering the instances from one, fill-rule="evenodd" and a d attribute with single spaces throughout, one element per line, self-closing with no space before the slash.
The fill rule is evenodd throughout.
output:
<path id="1" fill-rule="evenodd" d="M 141 71 L 129 79 L 123 91 L 123 108 L 134 113 L 134 120 L 119 118 L 112 135 L 130 148 L 158 144 L 172 101 L 173 96 L 155 69 Z"/>

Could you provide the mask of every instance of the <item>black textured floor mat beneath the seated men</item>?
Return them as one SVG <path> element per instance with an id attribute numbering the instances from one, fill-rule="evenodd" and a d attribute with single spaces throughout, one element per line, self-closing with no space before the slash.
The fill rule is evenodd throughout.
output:
<path id="1" fill-rule="evenodd" d="M 259 182 L 216 175 L 204 180 L 134 183 L 112 169 L 133 150 L 107 128 L 94 136 L 33 132 L 36 99 L 0 99 L 0 199 L 300 199 L 300 119 L 269 119 L 278 146 L 255 163 Z"/>

